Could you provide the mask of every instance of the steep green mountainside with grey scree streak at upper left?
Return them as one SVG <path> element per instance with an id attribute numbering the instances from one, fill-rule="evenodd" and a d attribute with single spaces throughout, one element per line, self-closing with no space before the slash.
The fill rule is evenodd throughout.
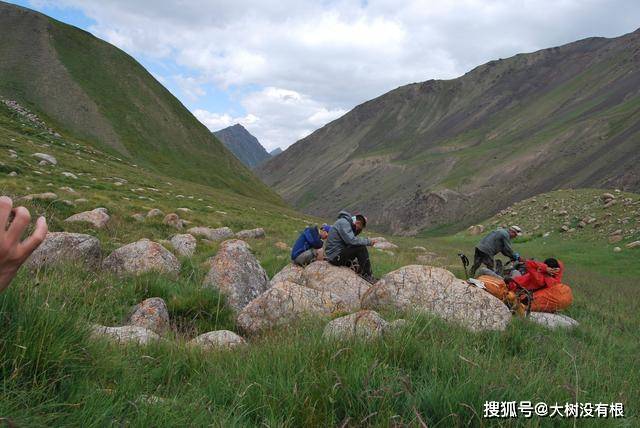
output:
<path id="1" fill-rule="evenodd" d="M 75 27 L 0 2 L 0 96 L 64 136 L 163 175 L 279 198 L 140 64 Z"/>

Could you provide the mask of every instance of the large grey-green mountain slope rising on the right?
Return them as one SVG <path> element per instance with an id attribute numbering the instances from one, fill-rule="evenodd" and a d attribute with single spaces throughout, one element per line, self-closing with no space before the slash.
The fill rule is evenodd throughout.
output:
<path id="1" fill-rule="evenodd" d="M 640 189 L 640 31 L 395 89 L 258 169 L 309 213 L 416 233 L 558 188 Z"/>

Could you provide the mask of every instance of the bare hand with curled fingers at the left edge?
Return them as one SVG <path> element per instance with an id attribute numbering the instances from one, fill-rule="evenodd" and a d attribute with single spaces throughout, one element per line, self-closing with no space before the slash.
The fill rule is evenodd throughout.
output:
<path id="1" fill-rule="evenodd" d="M 29 210 L 25 207 L 14 210 L 11 198 L 0 197 L 0 293 L 9 286 L 20 266 L 47 235 L 47 221 L 40 217 L 33 234 L 20 242 L 30 222 Z"/>

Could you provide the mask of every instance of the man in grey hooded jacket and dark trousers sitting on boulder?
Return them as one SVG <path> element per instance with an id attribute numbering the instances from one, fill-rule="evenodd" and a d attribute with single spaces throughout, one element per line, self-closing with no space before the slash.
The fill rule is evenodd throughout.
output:
<path id="1" fill-rule="evenodd" d="M 376 241 L 358 237 L 366 226 L 367 218 L 362 214 L 352 216 L 347 211 L 341 211 L 329 232 L 325 254 L 332 265 L 348 266 L 365 280 L 373 283 L 373 271 L 367 247 L 375 245 Z"/>

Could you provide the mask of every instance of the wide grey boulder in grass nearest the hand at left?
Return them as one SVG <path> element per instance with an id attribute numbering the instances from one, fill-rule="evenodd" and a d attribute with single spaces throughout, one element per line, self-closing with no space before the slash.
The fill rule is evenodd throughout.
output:
<path id="1" fill-rule="evenodd" d="M 26 266 L 39 269 L 62 263 L 77 263 L 89 269 L 100 266 L 100 241 L 91 235 L 49 232 L 40 246 L 26 261 Z"/>

